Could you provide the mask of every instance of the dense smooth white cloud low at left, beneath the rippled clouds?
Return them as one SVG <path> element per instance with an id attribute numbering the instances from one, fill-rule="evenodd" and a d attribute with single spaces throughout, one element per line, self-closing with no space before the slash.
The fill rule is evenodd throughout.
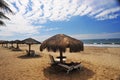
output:
<path id="1" fill-rule="evenodd" d="M 39 33 L 39 29 L 43 26 L 32 26 L 24 17 L 19 14 L 11 16 L 11 21 L 6 21 L 7 27 L 0 28 L 0 36 L 15 36 L 16 34 L 21 35 L 33 35 Z"/>

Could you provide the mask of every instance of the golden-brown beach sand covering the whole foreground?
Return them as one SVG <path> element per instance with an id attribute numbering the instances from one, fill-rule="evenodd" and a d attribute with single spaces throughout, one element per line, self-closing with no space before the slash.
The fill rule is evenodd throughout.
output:
<path id="1" fill-rule="evenodd" d="M 22 51 L 11 51 L 0 45 L 0 80 L 120 80 L 120 48 L 85 47 L 84 51 L 64 53 L 67 62 L 81 62 L 81 71 L 66 74 L 50 67 L 48 54 L 59 52 L 39 51 L 40 45 L 32 45 L 38 57 L 25 57 L 27 45 Z"/>

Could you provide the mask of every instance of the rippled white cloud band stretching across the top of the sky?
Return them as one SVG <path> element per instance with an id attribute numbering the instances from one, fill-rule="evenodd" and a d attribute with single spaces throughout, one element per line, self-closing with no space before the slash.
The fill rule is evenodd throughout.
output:
<path id="1" fill-rule="evenodd" d="M 69 20 L 73 16 L 89 16 L 98 20 L 116 18 L 120 9 L 115 0 L 6 0 L 16 3 L 11 8 L 28 22 L 45 23 Z M 112 15 L 112 17 L 111 17 Z M 115 15 L 115 17 L 114 17 Z M 117 16 L 116 16 L 117 15 Z M 38 21 L 38 22 L 36 22 Z"/>

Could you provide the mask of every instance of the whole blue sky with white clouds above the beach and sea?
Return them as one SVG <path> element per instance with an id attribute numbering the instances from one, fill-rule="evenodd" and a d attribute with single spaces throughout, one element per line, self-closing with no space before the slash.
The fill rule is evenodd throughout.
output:
<path id="1" fill-rule="evenodd" d="M 77 39 L 120 38 L 117 0 L 5 0 L 15 13 L 6 14 L 0 40 L 32 37 L 43 41 L 56 34 Z"/>

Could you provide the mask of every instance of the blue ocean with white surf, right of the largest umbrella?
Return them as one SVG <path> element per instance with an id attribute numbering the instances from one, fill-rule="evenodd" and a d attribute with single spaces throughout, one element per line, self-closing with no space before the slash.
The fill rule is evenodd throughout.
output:
<path id="1" fill-rule="evenodd" d="M 83 41 L 85 46 L 97 46 L 97 47 L 120 47 L 120 38 L 112 39 L 86 39 Z"/>

